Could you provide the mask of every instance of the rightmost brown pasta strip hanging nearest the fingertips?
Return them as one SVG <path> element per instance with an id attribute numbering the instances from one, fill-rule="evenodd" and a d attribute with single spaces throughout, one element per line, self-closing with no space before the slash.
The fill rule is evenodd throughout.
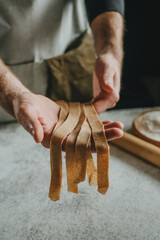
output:
<path id="1" fill-rule="evenodd" d="M 89 125 L 92 129 L 93 140 L 97 152 L 97 182 L 98 191 L 105 194 L 109 187 L 109 148 L 104 131 L 103 124 L 92 105 L 86 103 L 84 105 L 85 113 L 88 118 Z"/>

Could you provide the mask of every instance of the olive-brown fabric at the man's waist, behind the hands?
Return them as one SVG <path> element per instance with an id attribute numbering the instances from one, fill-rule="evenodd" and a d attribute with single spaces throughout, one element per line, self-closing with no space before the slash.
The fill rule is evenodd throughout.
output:
<path id="1" fill-rule="evenodd" d="M 93 98 L 92 74 L 95 51 L 92 37 L 83 33 L 61 56 L 46 60 L 49 65 L 49 98 L 88 102 Z"/>

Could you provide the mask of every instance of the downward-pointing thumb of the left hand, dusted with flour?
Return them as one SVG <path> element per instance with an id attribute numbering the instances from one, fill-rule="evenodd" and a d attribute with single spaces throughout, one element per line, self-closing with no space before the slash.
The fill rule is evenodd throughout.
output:
<path id="1" fill-rule="evenodd" d="M 20 107 L 18 121 L 24 129 L 34 137 L 34 140 L 37 143 L 43 140 L 43 127 L 41 126 L 32 106 Z"/>

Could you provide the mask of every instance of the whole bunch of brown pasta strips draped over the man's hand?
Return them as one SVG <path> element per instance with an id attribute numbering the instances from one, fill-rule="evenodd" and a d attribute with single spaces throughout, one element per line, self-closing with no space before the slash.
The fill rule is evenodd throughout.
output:
<path id="1" fill-rule="evenodd" d="M 109 148 L 103 124 L 92 103 L 58 102 L 61 106 L 59 121 L 52 133 L 50 143 L 51 182 L 49 197 L 60 199 L 62 188 L 62 143 L 67 137 L 66 170 L 68 191 L 78 193 L 78 183 L 85 180 L 89 185 L 97 185 L 105 194 L 109 187 Z M 97 169 L 91 154 L 91 134 L 97 152 Z"/>

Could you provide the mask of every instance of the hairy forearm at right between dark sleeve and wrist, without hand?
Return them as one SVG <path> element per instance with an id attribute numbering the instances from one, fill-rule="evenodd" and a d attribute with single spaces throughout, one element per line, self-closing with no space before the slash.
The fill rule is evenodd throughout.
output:
<path id="1" fill-rule="evenodd" d="M 105 12 L 91 23 L 97 55 L 112 52 L 122 64 L 124 21 L 118 12 Z"/>

